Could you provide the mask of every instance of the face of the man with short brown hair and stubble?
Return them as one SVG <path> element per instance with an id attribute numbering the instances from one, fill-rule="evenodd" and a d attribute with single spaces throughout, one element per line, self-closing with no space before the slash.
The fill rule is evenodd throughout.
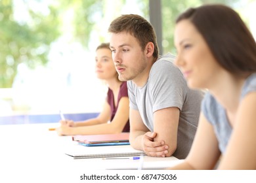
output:
<path id="1" fill-rule="evenodd" d="M 110 49 L 119 80 L 140 81 L 147 66 L 146 54 L 130 33 L 111 33 Z"/>

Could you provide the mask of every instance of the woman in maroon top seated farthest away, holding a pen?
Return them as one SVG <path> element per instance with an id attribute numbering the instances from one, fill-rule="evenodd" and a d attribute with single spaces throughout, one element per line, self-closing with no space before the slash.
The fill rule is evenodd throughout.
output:
<path id="1" fill-rule="evenodd" d="M 109 43 L 96 48 L 96 75 L 108 85 L 108 95 L 96 118 L 83 122 L 60 120 L 58 135 L 94 135 L 129 132 L 129 98 L 126 82 L 118 80 Z"/>

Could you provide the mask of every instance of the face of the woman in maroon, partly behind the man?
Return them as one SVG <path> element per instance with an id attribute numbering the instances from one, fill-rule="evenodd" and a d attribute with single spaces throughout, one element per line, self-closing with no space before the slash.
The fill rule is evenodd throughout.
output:
<path id="1" fill-rule="evenodd" d="M 95 57 L 96 76 L 102 80 L 117 78 L 117 72 L 109 48 L 99 48 Z"/>

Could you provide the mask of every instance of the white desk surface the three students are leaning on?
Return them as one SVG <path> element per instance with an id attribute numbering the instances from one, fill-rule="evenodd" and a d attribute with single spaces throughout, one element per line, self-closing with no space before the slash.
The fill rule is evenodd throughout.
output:
<path id="1" fill-rule="evenodd" d="M 65 154 L 70 149 L 85 149 L 72 141 L 70 136 L 58 136 L 56 131 L 49 131 L 58 124 L 22 124 L 0 125 L 0 182 L 59 182 L 64 178 L 74 182 L 74 176 L 88 171 L 104 171 L 106 169 L 137 169 L 139 160 L 132 159 L 73 159 Z M 109 146 L 102 146 L 109 148 Z M 169 167 L 179 163 L 179 159 L 144 157 L 143 168 Z M 53 181 L 53 178 L 56 180 Z M 23 181 L 21 181 L 23 180 Z"/>

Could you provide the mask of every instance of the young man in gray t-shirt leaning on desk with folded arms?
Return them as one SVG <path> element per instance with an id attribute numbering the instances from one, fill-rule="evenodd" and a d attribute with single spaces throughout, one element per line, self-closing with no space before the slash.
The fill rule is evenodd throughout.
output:
<path id="1" fill-rule="evenodd" d="M 141 16 L 122 15 L 108 31 L 119 80 L 128 81 L 131 146 L 148 156 L 186 158 L 202 92 L 188 88 L 174 56 L 158 56 L 154 28 Z"/>

